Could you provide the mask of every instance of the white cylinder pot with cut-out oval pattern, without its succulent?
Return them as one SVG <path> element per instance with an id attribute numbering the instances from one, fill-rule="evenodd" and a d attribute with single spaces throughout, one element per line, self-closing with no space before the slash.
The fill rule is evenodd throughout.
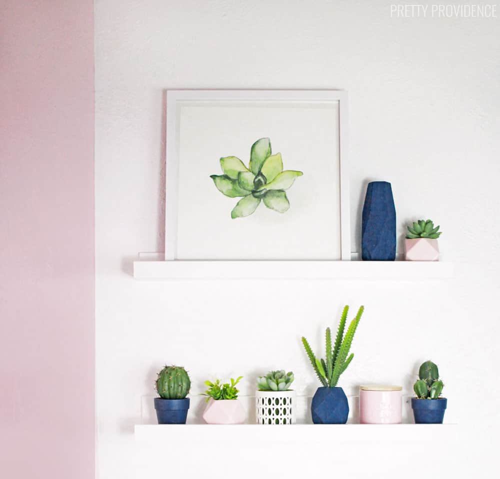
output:
<path id="1" fill-rule="evenodd" d="M 256 391 L 257 424 L 293 424 L 295 391 Z"/>

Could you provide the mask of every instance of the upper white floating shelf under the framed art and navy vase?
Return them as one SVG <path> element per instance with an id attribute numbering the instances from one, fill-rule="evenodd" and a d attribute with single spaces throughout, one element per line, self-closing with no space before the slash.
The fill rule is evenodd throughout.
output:
<path id="1" fill-rule="evenodd" d="M 419 261 L 134 261 L 135 279 L 436 280 L 453 264 Z"/>

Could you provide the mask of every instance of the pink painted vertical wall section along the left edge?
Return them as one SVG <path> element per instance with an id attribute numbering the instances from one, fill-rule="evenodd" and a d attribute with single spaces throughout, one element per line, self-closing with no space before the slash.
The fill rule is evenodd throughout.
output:
<path id="1" fill-rule="evenodd" d="M 0 2 L 0 476 L 94 476 L 93 2 Z"/>

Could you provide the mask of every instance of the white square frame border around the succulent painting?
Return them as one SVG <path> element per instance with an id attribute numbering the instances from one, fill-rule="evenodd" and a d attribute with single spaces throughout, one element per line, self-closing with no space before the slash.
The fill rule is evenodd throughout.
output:
<path id="1" fill-rule="evenodd" d="M 280 102 L 286 105 L 292 104 L 332 104 L 336 107 L 338 119 L 336 125 L 338 131 L 338 156 L 334 161 L 335 168 L 338 168 L 338 188 L 339 198 L 339 257 L 336 260 L 350 260 L 350 210 L 349 210 L 349 174 L 347 163 L 347 93 L 340 90 L 167 90 L 166 92 L 166 167 L 165 167 L 165 261 L 175 260 L 214 260 L 218 258 L 186 258 L 178 257 L 178 225 L 179 225 L 179 133 L 181 125 L 181 105 L 189 105 L 190 102 L 199 105 L 206 102 L 234 102 L 233 105 L 247 102 Z M 215 169 L 215 167 L 214 167 Z M 278 213 L 276 213 L 278 214 Z M 240 220 L 237 220 L 240 221 Z M 223 258 L 235 259 L 235 258 Z M 262 258 L 237 258 L 238 260 L 262 259 Z M 273 260 L 276 258 L 264 258 Z M 280 258 L 277 258 L 280 259 Z M 286 258 L 290 259 L 290 258 Z M 319 259 L 310 258 L 307 253 L 303 258 L 293 259 Z M 332 258 L 321 258 L 331 260 Z"/>

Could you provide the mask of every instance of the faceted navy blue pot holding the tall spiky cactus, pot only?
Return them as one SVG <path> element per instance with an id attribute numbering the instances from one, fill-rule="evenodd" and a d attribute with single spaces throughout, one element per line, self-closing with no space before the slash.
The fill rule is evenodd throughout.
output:
<path id="1" fill-rule="evenodd" d="M 311 404 L 314 424 L 345 424 L 349 415 L 347 396 L 341 387 L 318 387 Z"/>

